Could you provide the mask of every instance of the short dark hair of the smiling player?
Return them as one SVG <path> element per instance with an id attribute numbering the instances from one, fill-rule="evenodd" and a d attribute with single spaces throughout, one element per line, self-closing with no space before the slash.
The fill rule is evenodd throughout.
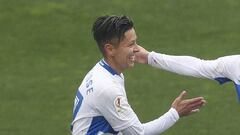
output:
<path id="1" fill-rule="evenodd" d="M 133 21 L 127 16 L 106 15 L 97 18 L 92 33 L 100 51 L 104 54 L 104 45 L 118 45 L 124 39 L 124 33 L 133 28 Z"/>

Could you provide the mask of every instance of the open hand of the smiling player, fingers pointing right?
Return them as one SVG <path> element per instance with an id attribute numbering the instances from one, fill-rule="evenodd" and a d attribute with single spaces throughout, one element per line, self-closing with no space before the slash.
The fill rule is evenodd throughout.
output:
<path id="1" fill-rule="evenodd" d="M 199 112 L 200 107 L 206 104 L 203 97 L 184 99 L 186 95 L 187 92 L 183 91 L 172 103 L 172 107 L 176 109 L 180 117 Z"/>

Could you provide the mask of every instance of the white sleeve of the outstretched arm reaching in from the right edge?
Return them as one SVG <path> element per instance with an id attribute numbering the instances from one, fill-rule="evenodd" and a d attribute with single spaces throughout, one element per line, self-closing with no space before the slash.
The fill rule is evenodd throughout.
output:
<path id="1" fill-rule="evenodd" d="M 223 84 L 233 81 L 240 100 L 240 55 L 202 60 L 192 56 L 173 56 L 151 52 L 148 64 L 181 75 L 208 78 Z"/>

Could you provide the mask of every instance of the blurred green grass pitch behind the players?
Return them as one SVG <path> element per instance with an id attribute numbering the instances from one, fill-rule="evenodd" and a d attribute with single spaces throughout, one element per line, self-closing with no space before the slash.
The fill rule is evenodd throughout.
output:
<path id="1" fill-rule="evenodd" d="M 101 59 L 91 35 L 98 16 L 131 17 L 148 50 L 215 59 L 240 53 L 239 7 L 238 0 L 0 0 L 0 135 L 70 134 L 76 89 Z M 207 99 L 163 135 L 239 135 L 232 83 L 139 64 L 124 74 L 142 122 L 165 113 L 182 90 Z"/>

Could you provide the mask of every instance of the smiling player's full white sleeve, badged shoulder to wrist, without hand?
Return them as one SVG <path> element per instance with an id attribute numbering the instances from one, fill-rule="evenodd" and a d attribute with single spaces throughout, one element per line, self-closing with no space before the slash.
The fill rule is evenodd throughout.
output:
<path id="1" fill-rule="evenodd" d="M 142 124 L 129 105 L 126 96 L 117 87 L 109 87 L 101 93 L 98 110 L 115 131 L 129 135 L 155 135 L 164 132 L 179 119 L 177 111 L 171 108 L 163 116 Z"/>

